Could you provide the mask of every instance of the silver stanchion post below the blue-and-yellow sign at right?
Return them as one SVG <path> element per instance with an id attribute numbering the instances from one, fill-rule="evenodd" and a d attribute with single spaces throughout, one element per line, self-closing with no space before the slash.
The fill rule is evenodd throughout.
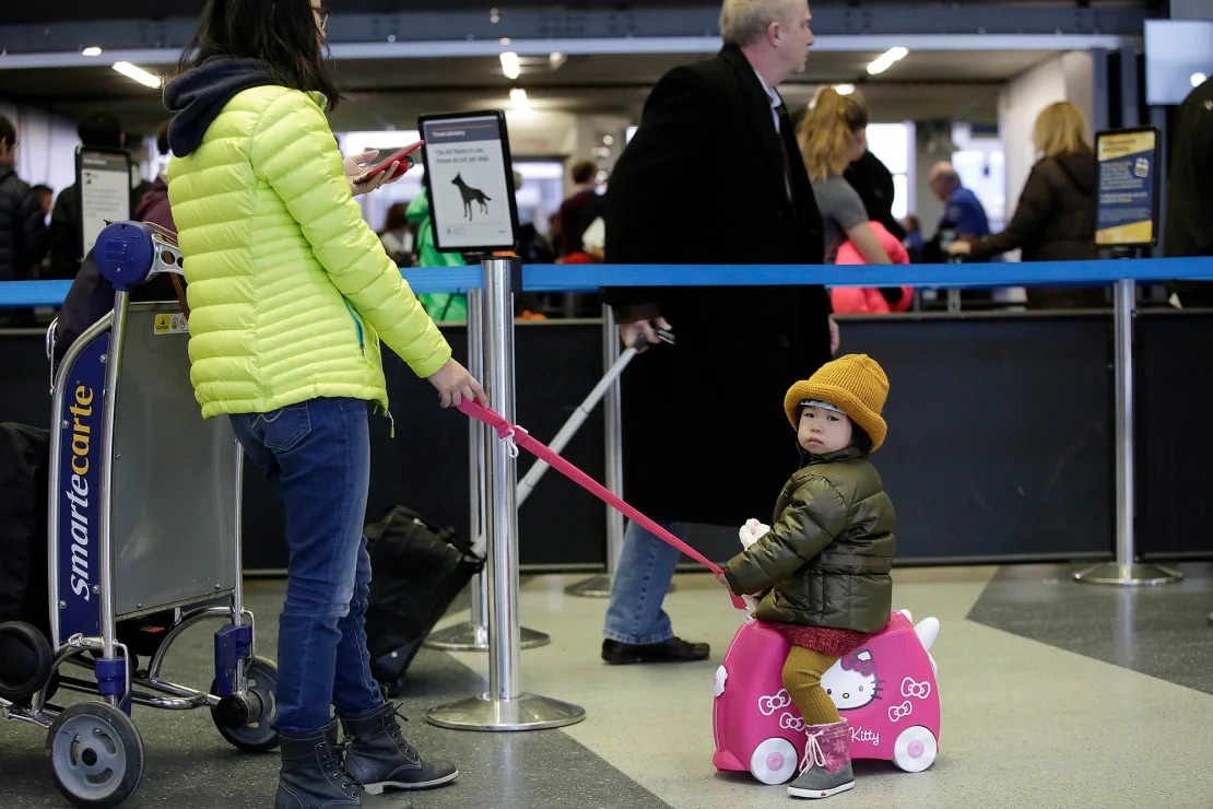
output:
<path id="1" fill-rule="evenodd" d="M 1183 576 L 1152 564 L 1137 562 L 1133 482 L 1133 320 L 1137 315 L 1137 285 L 1116 281 L 1115 372 L 1116 372 L 1116 562 L 1105 562 L 1074 574 L 1088 585 L 1166 585 Z"/>

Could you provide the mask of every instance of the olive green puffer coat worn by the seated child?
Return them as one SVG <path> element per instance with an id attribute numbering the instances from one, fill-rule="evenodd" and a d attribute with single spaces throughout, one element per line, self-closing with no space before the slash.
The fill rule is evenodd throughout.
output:
<path id="1" fill-rule="evenodd" d="M 763 621 L 879 632 L 893 609 L 893 503 L 867 456 L 810 456 L 784 485 L 770 531 L 724 566 L 735 593 L 770 589 Z"/>

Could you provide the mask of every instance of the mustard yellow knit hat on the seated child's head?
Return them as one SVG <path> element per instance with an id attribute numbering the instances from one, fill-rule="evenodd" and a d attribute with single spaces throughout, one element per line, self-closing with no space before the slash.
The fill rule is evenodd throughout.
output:
<path id="1" fill-rule="evenodd" d="M 888 425 L 881 418 L 889 395 L 889 377 L 884 369 L 867 354 L 847 354 L 818 369 L 807 380 L 787 389 L 784 410 L 792 429 L 801 423 L 801 403 L 816 399 L 837 406 L 872 439 L 875 452 L 884 443 Z"/>

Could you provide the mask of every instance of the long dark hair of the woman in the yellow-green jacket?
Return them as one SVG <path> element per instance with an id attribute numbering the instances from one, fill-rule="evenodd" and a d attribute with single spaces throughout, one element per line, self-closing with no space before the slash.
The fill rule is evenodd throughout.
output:
<path id="1" fill-rule="evenodd" d="M 177 70 L 213 56 L 260 59 L 277 84 L 323 92 L 330 108 L 341 99 L 311 0 L 206 0 Z"/>

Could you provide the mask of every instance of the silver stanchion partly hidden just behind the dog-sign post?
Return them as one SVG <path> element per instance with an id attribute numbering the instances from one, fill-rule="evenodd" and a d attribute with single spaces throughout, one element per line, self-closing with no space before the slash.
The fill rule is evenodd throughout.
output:
<path id="1" fill-rule="evenodd" d="M 478 380 L 484 378 L 484 292 L 480 289 L 467 291 L 467 370 Z M 472 536 L 484 536 L 488 486 L 485 469 L 489 466 L 485 443 L 488 427 L 475 418 L 468 418 L 468 471 L 471 502 Z M 429 649 L 444 651 L 488 651 L 489 650 L 489 577 L 479 572 L 468 582 L 472 594 L 471 620 L 455 623 L 431 632 L 421 644 Z M 552 643 L 552 638 L 542 632 L 519 627 L 519 644 L 523 649 L 534 649 Z"/>

